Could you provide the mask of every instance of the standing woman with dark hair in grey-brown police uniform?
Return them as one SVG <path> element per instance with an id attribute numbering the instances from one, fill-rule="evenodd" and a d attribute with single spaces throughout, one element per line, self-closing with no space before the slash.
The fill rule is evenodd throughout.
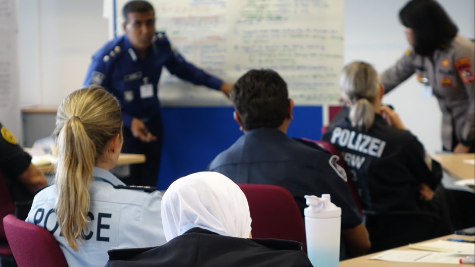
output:
<path id="1" fill-rule="evenodd" d="M 416 73 L 432 87 L 442 110 L 442 144 L 456 153 L 474 152 L 474 42 L 434 0 L 411 0 L 399 12 L 411 48 L 381 75 L 387 93 Z"/>

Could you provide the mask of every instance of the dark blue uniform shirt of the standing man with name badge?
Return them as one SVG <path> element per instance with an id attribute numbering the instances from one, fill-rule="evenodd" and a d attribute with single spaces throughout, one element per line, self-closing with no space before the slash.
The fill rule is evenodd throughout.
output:
<path id="1" fill-rule="evenodd" d="M 160 114 L 157 91 L 163 66 L 195 85 L 219 90 L 223 84 L 187 62 L 170 45 L 165 33 L 157 33 L 145 59 L 127 36 L 109 41 L 94 54 L 84 85 L 99 85 L 111 92 L 122 106 L 124 126 L 130 127 L 134 117 L 152 119 Z"/>

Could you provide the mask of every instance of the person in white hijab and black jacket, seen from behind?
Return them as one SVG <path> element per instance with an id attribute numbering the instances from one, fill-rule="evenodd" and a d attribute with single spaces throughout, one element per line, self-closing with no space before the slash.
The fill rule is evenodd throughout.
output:
<path id="1" fill-rule="evenodd" d="M 165 192 L 161 209 L 168 243 L 109 251 L 108 266 L 312 266 L 299 242 L 250 239 L 246 197 L 219 173 L 176 180 Z"/>

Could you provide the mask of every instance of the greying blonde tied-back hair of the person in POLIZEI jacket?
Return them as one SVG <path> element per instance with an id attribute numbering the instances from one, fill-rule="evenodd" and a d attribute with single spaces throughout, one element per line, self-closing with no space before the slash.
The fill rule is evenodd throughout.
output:
<path id="1" fill-rule="evenodd" d="M 340 75 L 343 96 L 350 101 L 351 126 L 368 131 L 375 121 L 374 102 L 379 97 L 381 79 L 368 63 L 346 65 Z"/>

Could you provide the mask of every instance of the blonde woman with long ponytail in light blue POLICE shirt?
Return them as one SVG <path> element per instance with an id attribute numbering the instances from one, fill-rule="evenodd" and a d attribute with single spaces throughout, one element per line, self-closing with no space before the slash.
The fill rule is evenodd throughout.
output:
<path id="1" fill-rule="evenodd" d="M 33 200 L 26 219 L 53 234 L 69 266 L 104 266 L 107 251 L 165 243 L 161 195 L 112 175 L 122 143 L 120 105 L 98 86 L 69 94 L 53 132 L 54 184 Z"/>

